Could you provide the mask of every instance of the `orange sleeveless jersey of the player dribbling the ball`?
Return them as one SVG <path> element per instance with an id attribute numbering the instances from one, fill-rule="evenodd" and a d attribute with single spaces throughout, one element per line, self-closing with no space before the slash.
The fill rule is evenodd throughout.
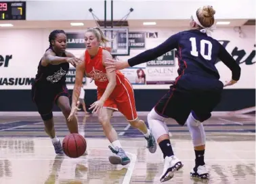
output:
<path id="1" fill-rule="evenodd" d="M 102 64 L 102 47 L 100 47 L 97 55 L 93 59 L 91 59 L 88 51 L 85 51 L 85 71 L 93 78 L 97 87 L 106 89 L 108 77 L 106 75 L 106 69 Z M 119 70 L 116 70 L 116 86 L 121 85 L 124 81 L 125 76 Z"/>

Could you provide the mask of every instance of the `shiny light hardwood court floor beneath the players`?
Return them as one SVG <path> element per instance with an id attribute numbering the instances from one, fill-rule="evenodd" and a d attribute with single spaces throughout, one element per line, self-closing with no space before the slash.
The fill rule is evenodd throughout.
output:
<path id="1" fill-rule="evenodd" d="M 0 116 L 0 183 L 160 183 L 163 155 L 146 149 L 141 133 L 131 128 L 123 116 L 112 118 L 125 151 L 131 158 L 127 166 L 108 162 L 112 153 L 97 118 L 79 114 L 79 133 L 87 140 L 87 156 L 72 159 L 56 156 L 51 141 L 43 132 L 39 116 Z M 62 115 L 54 116 L 58 137 L 68 129 Z M 146 120 L 144 114 L 140 118 Z M 184 168 L 165 183 L 255 183 L 255 115 L 213 116 L 205 123 L 207 151 L 205 161 L 209 181 L 190 179 L 194 150 L 186 126 L 173 120 L 168 124 L 175 155 Z"/>

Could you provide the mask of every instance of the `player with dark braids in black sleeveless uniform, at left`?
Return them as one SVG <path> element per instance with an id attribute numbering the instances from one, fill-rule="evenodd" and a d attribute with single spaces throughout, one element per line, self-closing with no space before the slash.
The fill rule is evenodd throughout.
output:
<path id="1" fill-rule="evenodd" d="M 77 118 L 68 121 L 70 101 L 66 88 L 66 74 L 69 64 L 76 66 L 81 62 L 66 50 L 66 33 L 54 30 L 49 34 L 49 48 L 39 62 L 35 82 L 32 85 L 33 101 L 45 124 L 45 132 L 51 137 L 56 154 L 64 154 L 60 140 L 56 137 L 52 108 L 56 103 L 66 118 L 70 133 L 78 133 Z"/>

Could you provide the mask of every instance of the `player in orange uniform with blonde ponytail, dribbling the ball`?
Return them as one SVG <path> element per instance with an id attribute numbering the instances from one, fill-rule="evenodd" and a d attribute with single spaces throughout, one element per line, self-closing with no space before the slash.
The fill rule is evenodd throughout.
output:
<path id="1" fill-rule="evenodd" d="M 119 71 L 110 72 L 111 70 L 106 70 L 104 63 L 106 58 L 112 58 L 112 55 L 105 49 L 102 49 L 100 44 L 105 44 L 107 41 L 100 28 L 89 28 L 85 32 L 85 45 L 87 49 L 80 58 L 85 61 L 85 64 L 77 66 L 72 94 L 72 110 L 69 118 L 72 119 L 72 116 L 74 116 L 83 76 L 87 74 L 93 78 L 95 85 L 98 87 L 98 101 L 91 104 L 89 109 L 93 109 L 92 112 L 98 114 L 98 119 L 102 124 L 104 133 L 110 143 L 112 143 L 113 147 L 109 146 L 109 148 L 115 155 L 110 156 L 110 163 L 126 165 L 131 160 L 122 149 L 117 133 L 110 124 L 110 118 L 114 110 L 119 110 L 127 118 L 131 126 L 144 134 L 148 141 L 147 147 L 151 153 L 156 151 L 156 142 L 145 122 L 137 117 L 133 88 L 127 78 Z"/>

